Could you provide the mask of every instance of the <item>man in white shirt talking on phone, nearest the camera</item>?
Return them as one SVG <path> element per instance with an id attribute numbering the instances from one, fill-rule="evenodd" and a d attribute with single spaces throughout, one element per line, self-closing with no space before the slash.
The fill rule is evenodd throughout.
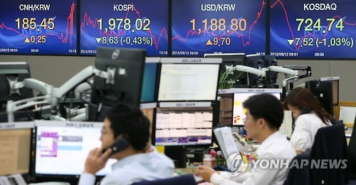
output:
<path id="1" fill-rule="evenodd" d="M 95 184 L 95 173 L 103 169 L 109 158 L 118 161 L 100 184 L 132 184 L 172 177 L 174 163 L 155 149 L 147 152 L 149 138 L 150 122 L 138 107 L 124 103 L 113 107 L 104 120 L 102 146 L 88 154 L 79 184 Z M 110 146 L 120 139 L 126 139 L 127 144 L 121 151 L 112 152 Z M 107 150 L 103 153 L 103 149 Z"/>

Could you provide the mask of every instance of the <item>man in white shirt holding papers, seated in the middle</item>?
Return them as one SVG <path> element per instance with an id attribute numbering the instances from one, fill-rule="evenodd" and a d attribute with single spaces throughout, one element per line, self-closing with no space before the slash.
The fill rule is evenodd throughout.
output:
<path id="1" fill-rule="evenodd" d="M 255 138 L 261 143 L 261 147 L 256 151 L 257 159 L 291 161 L 296 155 L 295 150 L 286 137 L 278 131 L 283 122 L 281 102 L 273 95 L 254 95 L 244 102 L 244 108 L 246 108 L 244 125 L 248 137 Z M 208 166 L 199 166 L 197 174 L 213 184 L 283 184 L 286 181 L 288 168 L 262 169 L 257 165 L 249 172 L 232 176 L 226 171 L 217 173 Z"/>

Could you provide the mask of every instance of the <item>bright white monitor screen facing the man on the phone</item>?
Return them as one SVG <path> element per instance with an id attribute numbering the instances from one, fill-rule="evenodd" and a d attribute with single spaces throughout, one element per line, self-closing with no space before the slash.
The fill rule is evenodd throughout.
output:
<path id="1" fill-rule="evenodd" d="M 82 174 L 90 150 L 101 145 L 101 129 L 103 122 L 36 121 L 36 176 Z M 96 175 L 109 174 L 115 162 L 109 159 Z"/>

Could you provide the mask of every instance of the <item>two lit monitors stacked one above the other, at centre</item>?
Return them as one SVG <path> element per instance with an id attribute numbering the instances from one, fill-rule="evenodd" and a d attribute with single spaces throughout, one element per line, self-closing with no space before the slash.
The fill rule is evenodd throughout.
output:
<path id="1" fill-rule="evenodd" d="M 210 145 L 221 58 L 162 58 L 155 144 Z"/>

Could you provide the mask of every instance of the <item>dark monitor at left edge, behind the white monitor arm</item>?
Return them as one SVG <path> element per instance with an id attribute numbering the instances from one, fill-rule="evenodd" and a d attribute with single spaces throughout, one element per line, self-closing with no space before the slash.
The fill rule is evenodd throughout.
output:
<path id="1" fill-rule="evenodd" d="M 10 83 L 22 82 L 25 78 L 31 78 L 30 66 L 27 63 L 0 63 L 0 112 L 6 112 L 6 103 L 9 100 L 33 97 L 33 90 L 28 88 L 10 92 Z"/>

